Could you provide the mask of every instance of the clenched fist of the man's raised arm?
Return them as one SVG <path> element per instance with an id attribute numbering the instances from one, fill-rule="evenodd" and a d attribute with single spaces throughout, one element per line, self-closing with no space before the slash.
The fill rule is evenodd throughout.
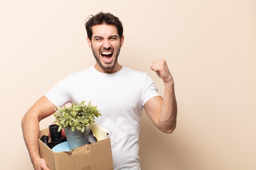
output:
<path id="1" fill-rule="evenodd" d="M 164 59 L 153 61 L 150 69 L 155 71 L 155 73 L 164 81 L 164 83 L 173 81 L 173 77 L 171 76 L 171 73 Z"/>

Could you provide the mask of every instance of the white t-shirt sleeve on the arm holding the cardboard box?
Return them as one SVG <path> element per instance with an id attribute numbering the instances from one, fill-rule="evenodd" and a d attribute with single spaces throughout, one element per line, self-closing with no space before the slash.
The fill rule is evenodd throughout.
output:
<path id="1" fill-rule="evenodd" d="M 58 82 L 50 91 L 45 94 L 55 106 L 62 107 L 71 102 L 70 90 L 72 84 L 72 74 Z"/>

